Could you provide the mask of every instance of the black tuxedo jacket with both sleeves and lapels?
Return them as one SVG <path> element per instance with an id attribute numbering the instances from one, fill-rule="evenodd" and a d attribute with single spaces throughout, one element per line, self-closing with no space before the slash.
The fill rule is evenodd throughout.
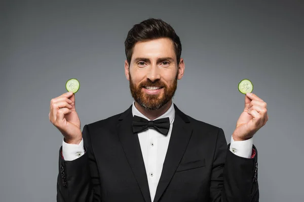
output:
<path id="1" fill-rule="evenodd" d="M 252 159 L 236 156 L 221 128 L 174 108 L 154 201 L 258 201 L 257 152 Z M 86 153 L 76 160 L 64 161 L 60 148 L 57 201 L 151 201 L 132 117 L 131 106 L 121 114 L 85 125 Z"/>

